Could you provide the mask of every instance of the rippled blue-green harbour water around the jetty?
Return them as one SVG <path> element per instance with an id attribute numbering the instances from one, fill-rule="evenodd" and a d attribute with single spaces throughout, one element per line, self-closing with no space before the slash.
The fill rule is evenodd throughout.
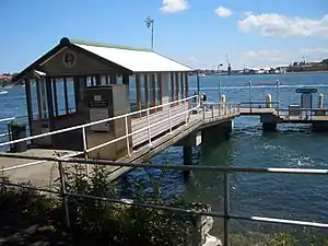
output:
<path id="1" fill-rule="evenodd" d="M 328 74 L 272 74 L 272 75 L 234 75 L 221 78 L 222 93 L 226 101 L 249 101 L 248 81 L 254 81 L 253 101 L 263 101 L 268 93 L 277 99 L 276 81 L 280 81 L 281 107 L 300 104 L 296 87 L 317 87 L 325 94 L 325 106 L 328 106 Z M 196 91 L 196 78 L 189 79 L 190 95 Z M 271 85 L 266 83 L 271 82 Z M 219 77 L 200 79 L 201 91 L 209 101 L 219 98 Z M 0 118 L 26 115 L 24 87 L 5 90 L 0 95 Z M 133 95 L 133 90 L 131 91 Z M 314 107 L 318 98 L 314 96 Z M 0 132 L 4 128 L 1 126 Z M 196 165 L 222 165 L 247 167 L 302 167 L 328 168 L 328 133 L 314 133 L 309 126 L 279 126 L 277 132 L 262 133 L 259 118 L 239 117 L 235 119 L 234 132 L 227 141 L 206 144 L 195 149 Z M 181 148 L 169 148 L 159 154 L 152 162 L 181 165 Z M 223 204 L 222 175 L 215 173 L 194 173 L 185 183 L 181 173 L 159 171 L 153 175 L 162 178 L 165 196 L 181 196 L 187 200 L 209 203 L 213 211 L 221 212 Z M 160 176 L 162 175 L 162 176 Z M 133 188 L 136 177 L 148 177 L 144 171 L 133 171 L 121 178 L 126 195 Z M 268 175 L 238 174 L 232 176 L 231 208 L 233 213 L 242 215 L 263 215 L 273 218 L 328 221 L 328 180 L 323 176 L 306 175 Z M 215 221 L 214 233 L 221 233 L 221 222 Z M 270 233 L 272 230 L 290 230 L 301 233 L 303 227 L 280 226 L 272 224 L 244 223 L 233 221 L 236 231 L 256 231 Z"/>

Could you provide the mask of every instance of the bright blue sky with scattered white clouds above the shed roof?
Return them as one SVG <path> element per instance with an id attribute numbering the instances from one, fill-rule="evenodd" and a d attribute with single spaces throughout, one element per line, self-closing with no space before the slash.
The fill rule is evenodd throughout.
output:
<path id="1" fill-rule="evenodd" d="M 0 0 L 0 72 L 19 72 L 61 37 L 151 47 L 194 68 L 328 58 L 328 0 Z"/>

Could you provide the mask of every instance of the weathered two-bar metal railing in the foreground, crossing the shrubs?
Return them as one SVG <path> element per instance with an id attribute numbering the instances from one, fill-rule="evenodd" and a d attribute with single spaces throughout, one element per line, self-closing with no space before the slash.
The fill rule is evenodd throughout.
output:
<path id="1" fill-rule="evenodd" d="M 46 161 L 46 162 L 58 162 L 58 171 L 59 171 L 59 179 L 60 179 L 60 191 L 54 191 L 51 189 L 45 189 L 45 188 L 36 188 L 36 187 L 28 187 L 24 185 L 19 184 L 12 184 L 7 181 L 0 181 L 0 184 L 5 186 L 15 186 L 15 187 L 22 187 L 26 189 L 34 189 L 43 192 L 49 192 L 55 194 L 61 197 L 62 204 L 65 208 L 65 216 L 66 216 L 66 223 L 67 226 L 70 227 L 70 214 L 69 214 L 69 203 L 68 203 L 68 197 L 80 197 L 80 198 L 86 198 L 86 199 L 93 199 L 93 200 L 101 200 L 106 202 L 114 202 L 114 203 L 120 203 L 126 206 L 134 206 L 134 207 L 141 207 L 141 208 L 150 208 L 155 210 L 165 210 L 165 211 L 172 211 L 172 212 L 178 212 L 178 213 L 188 213 L 188 214 L 198 214 L 198 215 L 210 215 L 214 218 L 221 218 L 224 220 L 224 226 L 223 226 L 223 233 L 224 233 L 224 246 L 230 245 L 230 221 L 231 220 L 242 220 L 242 221 L 256 221 L 256 222 L 267 222 L 267 223 L 278 223 L 278 224 L 290 224 L 290 225 L 301 225 L 301 226 L 311 226 L 311 227 L 318 227 L 318 229 L 328 229 L 327 223 L 318 223 L 318 222 L 309 222 L 309 221 L 300 221 L 300 220 L 289 220 L 289 219 L 278 219 L 278 218 L 267 218 L 267 216 L 246 216 L 246 215 L 239 215 L 239 214 L 233 214 L 230 211 L 231 206 L 231 199 L 230 199 L 230 190 L 231 190 L 231 184 L 230 184 L 230 175 L 231 174 L 237 174 L 237 173 L 268 173 L 268 174 L 293 174 L 293 175 L 300 175 L 300 174 L 307 174 L 307 175 L 328 175 L 328 169 L 311 169 L 311 168 L 250 168 L 250 167 L 223 167 L 223 166 L 192 166 L 192 165 L 156 165 L 156 164 L 131 164 L 131 163 L 118 163 L 118 162 L 110 162 L 110 161 L 91 161 L 91 160 L 74 160 L 74 159 L 61 159 L 61 157 L 37 157 L 37 156 L 24 156 L 24 155 L 8 155 L 8 154 L 0 154 L 1 156 L 5 157 L 15 157 L 15 159 L 27 159 L 27 160 L 35 160 L 35 161 Z M 220 212 L 204 212 L 204 211 L 198 211 L 198 210 L 187 210 L 183 208 L 174 208 L 174 207 L 165 207 L 165 206 L 154 206 L 149 203 L 142 203 L 142 202 L 131 202 L 126 201 L 121 199 L 115 199 L 115 198 L 106 198 L 106 197 L 98 197 L 98 196 L 90 196 L 84 194 L 73 194 L 68 192 L 66 189 L 66 176 L 65 176 L 65 163 L 71 163 L 71 164 L 86 164 L 86 165 L 103 165 L 103 166 L 118 166 L 118 167 L 131 167 L 131 168 L 157 168 L 157 169 L 173 169 L 173 171 L 201 171 L 201 172 L 215 172 L 215 173 L 222 173 L 224 175 L 223 185 L 224 185 L 224 191 L 223 191 L 223 213 Z"/>

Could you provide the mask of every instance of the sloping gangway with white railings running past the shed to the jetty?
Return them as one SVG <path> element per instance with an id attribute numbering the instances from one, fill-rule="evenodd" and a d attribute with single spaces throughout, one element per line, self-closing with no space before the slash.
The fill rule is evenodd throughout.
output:
<path id="1" fill-rule="evenodd" d="M 156 153 L 160 153 L 161 151 L 167 149 L 168 147 L 175 144 L 179 140 L 184 139 L 186 136 L 191 133 L 192 131 L 196 131 L 197 129 L 200 129 L 206 124 L 220 124 L 222 121 L 232 120 L 234 117 L 238 116 L 239 108 L 238 104 L 235 102 L 232 103 L 213 103 L 211 105 L 208 105 L 207 109 L 200 108 L 200 104 L 189 104 L 188 102 L 194 101 L 195 96 L 171 102 L 167 104 L 162 104 L 155 107 L 147 108 L 139 112 L 133 112 L 127 115 L 117 116 L 114 118 L 103 119 L 94 122 L 84 124 L 81 126 L 75 126 L 71 128 L 66 128 L 57 131 L 51 131 L 43 134 L 32 136 L 20 140 L 14 141 L 8 141 L 0 143 L 0 147 L 9 147 L 10 144 L 14 144 L 21 141 L 28 141 L 33 139 L 44 138 L 47 136 L 52 134 L 60 134 L 62 132 L 72 131 L 77 129 L 81 129 L 81 134 L 83 136 L 83 151 L 68 151 L 68 150 L 43 150 L 43 149 L 31 149 L 23 153 L 0 153 L 0 172 L 8 173 L 13 179 L 15 180 L 22 180 L 22 177 L 24 176 L 22 172 L 20 172 L 20 168 L 24 167 L 24 173 L 28 174 L 27 176 L 33 175 L 33 180 L 38 186 L 47 186 L 54 180 L 56 177 L 51 175 L 51 172 L 54 168 L 56 169 L 56 163 L 49 163 L 47 161 L 37 161 L 37 162 L 28 162 L 24 159 L 21 159 L 19 155 L 28 155 L 28 156 L 44 156 L 44 157 L 52 157 L 54 155 L 61 155 L 62 157 L 67 159 L 89 159 L 87 154 L 91 151 L 95 151 L 97 149 L 101 149 L 106 145 L 114 144 L 117 141 L 127 140 L 127 149 L 128 154 L 119 160 L 118 162 L 128 162 L 128 163 L 134 163 L 134 162 L 143 162 L 152 156 L 154 156 Z M 184 110 L 178 112 L 171 112 L 171 105 L 176 105 L 177 103 L 180 103 L 183 105 L 186 105 Z M 102 144 L 98 144 L 96 147 L 92 147 L 87 149 L 86 140 L 85 140 L 85 128 L 103 124 L 103 122 L 109 122 L 115 119 L 124 118 L 127 120 L 128 117 L 131 117 L 132 115 L 140 115 L 144 112 L 154 110 L 159 107 L 164 108 L 165 106 L 168 107 L 168 117 L 165 119 L 161 119 L 159 121 L 151 121 L 150 118 L 148 118 L 148 126 L 143 127 L 138 130 L 131 129 L 129 132 L 128 129 L 126 129 L 126 134 L 119 138 L 116 138 L 114 140 L 104 142 Z M 180 125 L 174 126 L 174 119 L 177 117 L 184 116 L 185 121 Z M 154 129 L 156 126 L 165 125 L 166 130 L 161 134 L 155 134 L 155 132 L 152 132 L 152 129 Z M 142 144 L 138 144 L 138 147 L 131 145 L 131 143 L 128 141 L 129 138 L 133 138 L 136 134 L 140 134 L 140 132 L 143 132 L 143 134 L 148 136 L 148 141 L 143 142 Z M 112 179 L 115 179 L 122 175 L 124 173 L 131 169 L 130 167 L 122 168 L 122 167 L 110 167 Z M 91 172 L 89 169 L 89 165 L 86 165 L 86 173 Z M 31 175 L 30 175 L 31 174 Z M 26 176 L 26 175 L 25 175 Z M 51 180 L 50 180 L 51 179 Z"/>

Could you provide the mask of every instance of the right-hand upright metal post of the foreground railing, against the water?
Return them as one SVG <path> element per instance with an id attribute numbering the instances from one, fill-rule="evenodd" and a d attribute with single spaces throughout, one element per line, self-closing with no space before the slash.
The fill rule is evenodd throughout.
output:
<path id="1" fill-rule="evenodd" d="M 230 176 L 229 173 L 224 173 L 224 225 L 223 225 L 223 245 L 230 245 Z"/>

